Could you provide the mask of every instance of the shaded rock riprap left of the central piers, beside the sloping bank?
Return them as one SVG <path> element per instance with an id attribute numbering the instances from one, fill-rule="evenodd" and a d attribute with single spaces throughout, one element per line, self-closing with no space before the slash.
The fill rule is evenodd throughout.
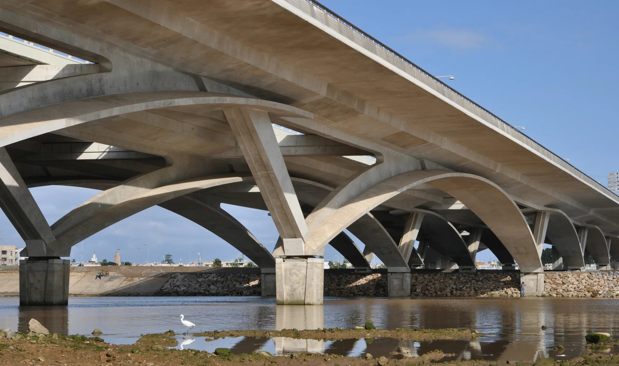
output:
<path id="1" fill-rule="evenodd" d="M 157 296 L 260 296 L 260 275 L 173 273 Z"/>

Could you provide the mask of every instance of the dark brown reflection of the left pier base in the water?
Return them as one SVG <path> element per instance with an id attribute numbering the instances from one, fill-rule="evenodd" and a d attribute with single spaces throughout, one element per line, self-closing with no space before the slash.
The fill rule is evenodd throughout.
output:
<path id="1" fill-rule="evenodd" d="M 69 332 L 69 308 L 66 306 L 21 306 L 17 318 L 17 331 L 28 331 L 30 319 L 38 320 L 51 333 Z"/>

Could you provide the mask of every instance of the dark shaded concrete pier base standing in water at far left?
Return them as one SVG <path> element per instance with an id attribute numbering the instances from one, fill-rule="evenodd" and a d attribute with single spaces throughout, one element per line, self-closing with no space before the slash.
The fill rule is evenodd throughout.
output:
<path id="1" fill-rule="evenodd" d="M 19 262 L 19 305 L 67 305 L 70 261 L 60 258 Z"/>

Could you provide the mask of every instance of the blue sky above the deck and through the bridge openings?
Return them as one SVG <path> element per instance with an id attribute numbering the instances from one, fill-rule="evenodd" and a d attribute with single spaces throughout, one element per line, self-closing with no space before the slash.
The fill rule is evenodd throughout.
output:
<path id="1" fill-rule="evenodd" d="M 619 2 L 595 1 L 366 1 L 323 0 L 323 4 L 448 83 L 595 180 L 619 171 L 617 160 L 617 59 Z M 97 193 L 73 187 L 32 189 L 53 223 Z M 269 249 L 277 232 L 264 211 L 226 206 Z M 23 245 L 2 215 L 3 244 Z M 144 262 L 167 252 L 175 260 L 235 258 L 238 252 L 205 229 L 151 208 L 84 240 L 84 259 L 93 251 L 111 260 Z M 137 249 L 141 247 L 141 249 Z M 74 247 L 79 260 L 81 245 Z M 327 247 L 326 259 L 337 252 Z M 492 259 L 487 250 L 478 256 Z M 341 260 L 341 257 L 339 258 Z"/>

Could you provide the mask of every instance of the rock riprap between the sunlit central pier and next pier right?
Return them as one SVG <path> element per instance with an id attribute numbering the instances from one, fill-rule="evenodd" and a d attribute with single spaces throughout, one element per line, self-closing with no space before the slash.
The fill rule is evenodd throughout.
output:
<path id="1" fill-rule="evenodd" d="M 324 296 L 387 296 L 387 277 L 380 273 L 324 274 Z"/>

